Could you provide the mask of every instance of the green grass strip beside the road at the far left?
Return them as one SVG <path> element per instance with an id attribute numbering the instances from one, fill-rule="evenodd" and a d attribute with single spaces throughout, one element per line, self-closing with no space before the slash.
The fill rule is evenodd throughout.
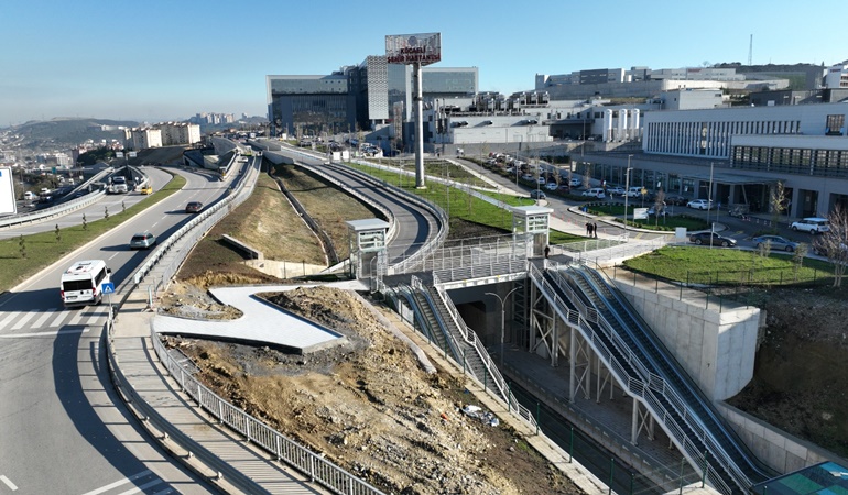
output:
<path id="1" fill-rule="evenodd" d="M 53 230 L 0 241 L 0 263 L 3 266 L 3 270 L 0 270 L 0 292 L 11 289 L 65 254 L 167 198 L 184 185 L 185 178 L 173 176 L 161 190 L 124 211 L 109 211 L 108 219 L 105 218 L 105 211 L 100 212 L 97 218 L 87 218 L 86 227 L 68 227 L 59 230 L 58 235 Z"/>

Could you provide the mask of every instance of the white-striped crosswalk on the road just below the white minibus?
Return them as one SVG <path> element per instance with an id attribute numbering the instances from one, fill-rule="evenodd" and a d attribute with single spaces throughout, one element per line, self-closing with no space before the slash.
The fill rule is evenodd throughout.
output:
<path id="1" fill-rule="evenodd" d="M 20 331 L 56 331 L 67 326 L 96 327 L 106 323 L 109 307 L 50 308 L 31 311 L 0 311 L 0 337 L 13 337 Z"/>

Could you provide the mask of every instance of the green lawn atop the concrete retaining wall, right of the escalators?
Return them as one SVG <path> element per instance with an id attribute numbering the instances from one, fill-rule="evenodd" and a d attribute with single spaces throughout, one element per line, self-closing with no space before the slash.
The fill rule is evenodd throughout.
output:
<path id="1" fill-rule="evenodd" d="M 703 285 L 823 283 L 833 265 L 813 258 L 720 248 L 667 246 L 626 261 L 624 266 L 662 279 Z"/>

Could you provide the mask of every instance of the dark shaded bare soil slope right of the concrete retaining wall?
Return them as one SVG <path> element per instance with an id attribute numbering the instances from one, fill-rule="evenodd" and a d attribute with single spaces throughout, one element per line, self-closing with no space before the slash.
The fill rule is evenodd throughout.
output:
<path id="1" fill-rule="evenodd" d="M 754 377 L 728 403 L 848 457 L 848 288 L 759 293 L 767 311 Z"/>

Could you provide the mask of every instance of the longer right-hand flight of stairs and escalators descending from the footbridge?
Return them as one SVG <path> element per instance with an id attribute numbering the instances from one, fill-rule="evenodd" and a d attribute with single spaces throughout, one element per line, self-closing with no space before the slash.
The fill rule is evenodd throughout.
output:
<path id="1" fill-rule="evenodd" d="M 648 324 L 597 273 L 533 266 L 531 278 L 561 318 L 591 343 L 628 394 L 651 410 L 692 465 L 702 472 L 705 465 L 711 468 L 707 477 L 717 490 L 747 492 L 752 481 L 768 477 Z"/>

